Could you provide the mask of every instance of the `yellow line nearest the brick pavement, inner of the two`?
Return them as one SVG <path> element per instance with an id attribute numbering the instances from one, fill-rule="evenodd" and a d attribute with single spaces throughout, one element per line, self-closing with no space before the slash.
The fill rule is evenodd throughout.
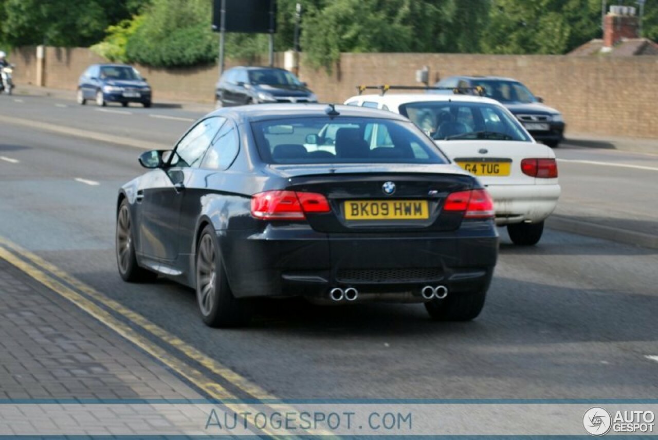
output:
<path id="1" fill-rule="evenodd" d="M 0 237 L 0 244 L 2 244 L 3 246 L 5 245 L 5 240 L 2 237 Z M 126 324 L 121 320 L 118 320 L 118 318 L 114 318 L 114 316 L 110 314 L 110 312 L 107 312 L 106 310 L 101 308 L 101 306 L 96 305 L 95 303 L 93 303 L 86 297 L 80 295 L 80 293 L 77 293 L 73 289 L 66 287 L 66 285 L 64 285 L 63 283 L 55 280 L 55 278 L 52 278 L 46 272 L 39 270 L 36 266 L 32 266 L 32 264 L 29 264 L 28 262 L 22 260 L 17 255 L 14 255 L 14 253 L 11 253 L 7 249 L 7 247 L 3 247 L 3 246 L 0 246 L 0 258 L 3 258 L 5 261 L 9 262 L 16 268 L 22 270 L 22 272 L 24 272 L 31 278 L 34 278 L 34 280 L 39 281 L 39 283 L 45 285 L 45 287 L 48 287 L 51 291 L 57 293 L 57 295 L 64 297 L 64 299 L 67 299 L 74 305 L 78 306 L 78 308 L 84 310 L 84 312 L 87 312 L 89 315 L 91 315 L 93 318 L 95 318 L 96 320 L 98 320 L 99 322 L 101 322 L 111 330 L 115 331 L 116 333 L 118 333 L 128 341 L 137 345 L 140 349 L 150 354 L 151 356 L 162 362 L 164 365 L 168 366 L 168 368 L 171 368 L 176 373 L 180 374 L 180 376 L 193 383 L 199 389 L 203 390 L 205 393 L 207 393 L 207 395 L 211 397 L 211 399 L 221 401 L 219 402 L 220 404 L 226 406 L 226 408 L 236 413 L 247 414 L 245 410 L 251 411 L 251 413 L 249 413 L 251 414 L 251 420 L 249 420 L 249 416 L 245 416 L 245 420 L 247 420 L 247 422 L 252 426 L 257 426 L 254 423 L 253 418 L 259 411 L 255 409 L 253 406 L 250 406 L 249 404 L 245 404 L 245 403 L 240 403 L 240 399 L 238 399 L 236 395 L 232 394 L 230 391 L 228 391 L 219 383 L 213 382 L 211 378 L 205 376 L 203 372 L 197 370 L 196 368 L 194 368 L 189 364 L 186 364 L 186 362 L 179 360 L 175 356 L 172 356 L 172 354 L 167 353 L 165 349 L 159 347 L 158 345 L 155 345 L 147 337 L 141 335 L 138 331 L 133 330 L 133 328 L 131 328 L 129 324 Z M 22 255 L 22 257 L 25 256 Z M 271 409 L 275 411 L 280 410 L 280 408 L 290 408 L 285 404 L 265 404 L 265 403 L 263 404 L 269 406 Z M 270 435 L 270 437 L 272 438 L 277 438 L 274 437 L 274 433 L 272 433 L 266 428 L 263 429 L 257 428 L 257 430 L 265 433 L 266 435 Z M 326 432 L 313 431 L 311 429 L 305 432 L 309 433 L 310 435 L 328 435 L 328 433 Z M 293 437 L 293 434 L 288 432 L 286 432 L 286 435 Z"/>

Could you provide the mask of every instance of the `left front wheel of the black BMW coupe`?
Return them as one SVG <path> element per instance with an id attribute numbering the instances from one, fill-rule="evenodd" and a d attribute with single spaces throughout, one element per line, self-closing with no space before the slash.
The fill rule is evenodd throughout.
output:
<path id="1" fill-rule="evenodd" d="M 128 201 L 122 201 L 116 216 L 116 267 L 119 275 L 128 283 L 155 281 L 155 272 L 139 267 L 135 255 L 135 240 L 132 237 L 132 220 Z"/>

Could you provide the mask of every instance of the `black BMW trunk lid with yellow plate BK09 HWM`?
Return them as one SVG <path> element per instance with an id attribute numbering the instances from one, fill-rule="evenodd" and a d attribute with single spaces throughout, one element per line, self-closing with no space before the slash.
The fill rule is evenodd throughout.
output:
<path id="1" fill-rule="evenodd" d="M 328 199 L 331 212 L 307 214 L 311 228 L 326 233 L 456 230 L 463 213 L 442 212 L 442 202 L 449 193 L 477 185 L 452 164 L 272 165 L 270 169 L 287 178 L 286 190 L 320 193 Z"/>

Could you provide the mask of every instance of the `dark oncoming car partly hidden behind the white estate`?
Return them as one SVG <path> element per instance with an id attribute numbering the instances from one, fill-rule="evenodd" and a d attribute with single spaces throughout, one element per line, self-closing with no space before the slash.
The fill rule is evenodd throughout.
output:
<path id="1" fill-rule="evenodd" d="M 450 76 L 436 87 L 484 87 L 484 95 L 503 104 L 517 117 L 535 140 L 555 148 L 564 139 L 562 114 L 544 105 L 528 87 L 517 80 L 497 76 Z"/>

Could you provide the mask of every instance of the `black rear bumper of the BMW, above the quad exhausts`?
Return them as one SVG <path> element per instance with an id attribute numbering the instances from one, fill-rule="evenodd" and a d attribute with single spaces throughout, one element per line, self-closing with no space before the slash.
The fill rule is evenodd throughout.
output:
<path id="1" fill-rule="evenodd" d="M 327 235 L 306 226 L 267 226 L 262 233 L 218 233 L 236 297 L 328 297 L 333 287 L 359 293 L 409 293 L 426 285 L 451 293 L 488 289 L 498 253 L 493 222 L 457 232 Z"/>

